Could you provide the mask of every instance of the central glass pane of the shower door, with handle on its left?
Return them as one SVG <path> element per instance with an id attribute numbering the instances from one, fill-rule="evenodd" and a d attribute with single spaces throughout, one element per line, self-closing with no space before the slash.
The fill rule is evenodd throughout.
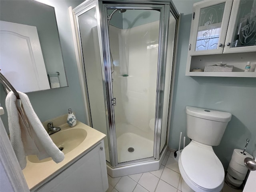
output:
<path id="1" fill-rule="evenodd" d="M 108 18 L 118 163 L 153 157 L 160 11 L 108 9 Z"/>

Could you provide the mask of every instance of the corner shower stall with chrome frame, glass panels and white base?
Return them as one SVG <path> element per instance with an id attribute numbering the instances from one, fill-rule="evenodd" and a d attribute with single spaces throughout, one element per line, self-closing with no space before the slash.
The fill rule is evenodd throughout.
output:
<path id="1" fill-rule="evenodd" d="M 159 169 L 168 141 L 178 13 L 170 0 L 86 0 L 72 10 L 88 125 L 112 177 Z"/>

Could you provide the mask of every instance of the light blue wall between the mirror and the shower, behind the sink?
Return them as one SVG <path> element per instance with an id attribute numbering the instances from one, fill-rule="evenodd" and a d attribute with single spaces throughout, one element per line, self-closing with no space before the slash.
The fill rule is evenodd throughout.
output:
<path id="1" fill-rule="evenodd" d="M 58 29 L 60 33 L 60 42 L 64 64 L 66 67 L 66 75 L 69 87 L 56 88 L 40 92 L 28 93 L 30 102 L 41 121 L 67 114 L 68 108 L 72 108 L 76 113 L 76 118 L 86 123 L 86 112 L 82 99 L 82 92 L 78 78 L 78 68 L 76 66 L 76 58 L 74 52 L 74 43 L 70 25 L 68 7 L 75 8 L 83 1 L 50 1 L 50 5 L 55 7 Z M 5 93 L 1 86 L 1 106 L 5 112 Z M 6 112 L 7 113 L 7 112 Z M 5 127 L 8 127 L 7 114 L 1 116 Z"/>

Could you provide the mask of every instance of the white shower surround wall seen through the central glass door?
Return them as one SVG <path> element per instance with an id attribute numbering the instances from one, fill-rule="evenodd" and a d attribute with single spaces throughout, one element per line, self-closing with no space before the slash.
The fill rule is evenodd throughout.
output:
<path id="1" fill-rule="evenodd" d="M 116 129 L 116 134 L 135 131 L 145 136 L 153 131 L 149 123 L 155 118 L 159 21 L 123 30 L 110 25 L 109 36 L 115 124 L 132 125 Z M 153 134 L 148 137 L 154 139 Z"/>

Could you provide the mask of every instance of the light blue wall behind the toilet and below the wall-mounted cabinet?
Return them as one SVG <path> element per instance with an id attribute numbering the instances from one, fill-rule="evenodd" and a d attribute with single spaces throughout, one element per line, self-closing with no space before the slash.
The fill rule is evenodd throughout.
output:
<path id="1" fill-rule="evenodd" d="M 185 76 L 186 59 L 194 0 L 174 0 L 181 13 L 175 71 L 174 98 L 170 124 L 169 147 L 178 149 L 179 135 L 186 135 L 186 106 L 230 112 L 229 122 L 219 146 L 214 147 L 224 168 L 234 148 L 243 149 L 250 139 L 247 152 L 252 154 L 256 142 L 256 79 Z M 186 144 L 188 144 L 188 139 Z"/>

